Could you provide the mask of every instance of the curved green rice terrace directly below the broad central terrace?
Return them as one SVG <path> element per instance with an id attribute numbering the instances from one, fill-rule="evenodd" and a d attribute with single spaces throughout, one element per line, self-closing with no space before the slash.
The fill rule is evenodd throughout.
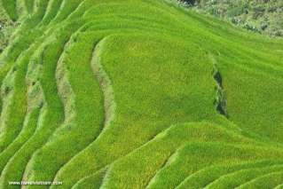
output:
<path id="1" fill-rule="evenodd" d="M 208 132 L 203 130 L 206 127 L 210 127 Z M 200 133 L 202 138 L 200 138 Z M 218 138 L 215 138 L 216 135 L 211 135 L 211 133 L 216 133 Z M 169 130 L 153 138 L 145 146 L 138 148 L 122 160 L 114 162 L 113 166 L 107 171 L 103 186 L 108 188 L 115 185 L 120 188 L 124 185 L 133 185 L 135 188 L 145 188 L 146 183 L 149 183 L 148 187 L 154 188 L 156 186 L 152 183 L 160 179 L 160 172 L 176 159 L 179 152 L 183 151 L 183 146 L 186 143 L 226 141 L 227 138 L 231 138 L 234 143 L 245 141 L 245 138 L 240 138 L 232 132 L 218 130 L 217 125 L 207 122 L 172 126 Z M 127 171 L 121 171 L 122 169 L 127 169 Z M 160 171 L 156 173 L 158 169 Z M 154 174 L 156 175 L 154 176 Z M 164 180 L 169 181 L 168 177 Z M 160 186 L 166 188 L 166 185 Z"/>

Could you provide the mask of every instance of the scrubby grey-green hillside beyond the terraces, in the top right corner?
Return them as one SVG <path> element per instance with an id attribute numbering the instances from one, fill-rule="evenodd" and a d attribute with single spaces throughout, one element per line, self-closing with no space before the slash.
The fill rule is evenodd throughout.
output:
<path id="1" fill-rule="evenodd" d="M 283 36 L 281 0 L 178 0 L 201 13 L 208 13 L 236 26 L 271 36 Z"/>

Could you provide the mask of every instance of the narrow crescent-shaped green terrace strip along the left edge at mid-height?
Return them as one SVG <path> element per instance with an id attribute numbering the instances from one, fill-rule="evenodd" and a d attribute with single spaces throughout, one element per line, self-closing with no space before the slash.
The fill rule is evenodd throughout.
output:
<path id="1" fill-rule="evenodd" d="M 21 130 L 21 126 L 24 122 L 27 102 L 25 94 L 27 92 L 25 84 L 25 75 L 28 67 L 28 53 L 23 55 L 19 64 L 14 67 L 7 75 L 7 80 L 12 77 L 12 83 L 7 83 L 4 80 L 4 86 L 2 87 L 3 93 L 6 95 L 4 98 L 4 106 L 2 115 L 2 122 L 0 124 L 0 150 L 3 151 L 12 140 L 16 138 Z M 16 114 L 16 116 L 15 116 Z"/>

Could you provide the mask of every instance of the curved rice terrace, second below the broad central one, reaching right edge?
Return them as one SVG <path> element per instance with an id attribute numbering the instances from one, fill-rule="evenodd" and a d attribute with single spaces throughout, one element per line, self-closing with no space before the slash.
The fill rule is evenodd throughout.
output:
<path id="1" fill-rule="evenodd" d="M 185 178 L 190 177 L 198 169 L 213 165 L 232 165 L 239 162 L 259 161 L 263 159 L 279 161 L 278 154 L 272 154 L 271 152 L 274 152 L 274 150 L 268 147 L 232 146 L 219 143 L 200 143 L 196 146 L 194 144 L 188 145 L 184 149 L 181 149 L 174 161 L 161 170 L 161 173 L 155 178 L 155 182 L 153 182 L 151 188 L 172 188 L 177 185 L 180 188 L 204 187 L 209 183 L 209 177 L 204 180 L 202 177 L 200 177 L 200 180 L 196 178 L 185 180 Z M 281 154 L 281 152 L 278 153 Z M 183 182 L 184 180 L 185 182 Z M 194 183 L 190 183 L 190 180 Z M 197 185 L 194 185 L 195 183 Z"/>

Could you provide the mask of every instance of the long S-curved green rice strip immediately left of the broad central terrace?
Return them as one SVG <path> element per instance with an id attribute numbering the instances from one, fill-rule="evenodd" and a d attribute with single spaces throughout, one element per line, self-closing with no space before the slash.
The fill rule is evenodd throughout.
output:
<path id="1" fill-rule="evenodd" d="M 31 160 L 30 173 L 35 180 L 51 180 L 59 167 L 64 165 L 75 154 L 88 146 L 103 129 L 103 100 L 98 81 L 91 71 L 90 59 L 96 39 L 88 41 L 90 35 L 75 36 L 71 39 L 70 47 L 61 60 L 70 92 L 65 99 L 66 122 L 56 130 L 51 141 L 40 151 L 36 152 Z M 77 42 L 77 43 L 74 43 Z M 71 44 L 74 43 L 74 44 Z M 78 53 L 72 53 L 78 52 Z M 79 64 L 79 65 L 78 65 Z M 53 69 L 54 70 L 54 69 Z M 83 76 L 83 77 L 81 77 Z M 57 76 L 58 80 L 62 75 Z M 67 91 L 67 86 L 62 83 L 60 93 L 62 96 Z M 64 97 L 65 98 L 65 97 Z M 85 106 L 88 104 L 88 106 Z M 83 134 L 82 134 L 83 133 Z M 84 138 L 81 140 L 81 138 Z M 56 153 L 55 153 L 56 152 Z M 52 155 L 50 155 L 52 154 Z M 49 156 L 49 158 L 45 158 Z M 46 171 L 46 164 L 52 166 Z M 38 170 L 38 171 L 37 171 Z"/>

